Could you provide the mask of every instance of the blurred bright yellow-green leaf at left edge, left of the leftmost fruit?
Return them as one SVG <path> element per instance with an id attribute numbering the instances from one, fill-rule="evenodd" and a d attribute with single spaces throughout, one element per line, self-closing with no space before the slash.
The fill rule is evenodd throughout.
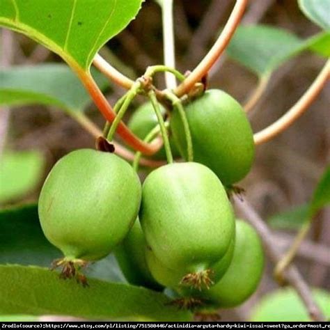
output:
<path id="1" fill-rule="evenodd" d="M 24 196 L 38 184 L 44 160 L 40 152 L 3 152 L 0 159 L 0 203 Z"/>

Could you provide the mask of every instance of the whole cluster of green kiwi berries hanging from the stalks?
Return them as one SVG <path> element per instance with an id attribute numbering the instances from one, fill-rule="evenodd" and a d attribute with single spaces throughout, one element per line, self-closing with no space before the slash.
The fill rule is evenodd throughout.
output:
<path id="1" fill-rule="evenodd" d="M 163 109 L 164 110 L 164 109 Z M 49 173 L 39 215 L 49 242 L 61 249 L 63 277 L 86 283 L 86 262 L 113 252 L 129 283 L 171 289 L 182 306 L 228 308 L 255 290 L 263 269 L 256 231 L 235 219 L 228 189 L 249 172 L 253 133 L 233 97 L 209 90 L 186 104 L 194 162 L 161 166 L 141 182 L 125 160 L 77 150 Z M 157 125 L 144 104 L 129 127 L 145 138 Z M 182 117 L 170 115 L 174 155 L 187 159 Z M 164 157 L 160 150 L 157 158 Z"/>

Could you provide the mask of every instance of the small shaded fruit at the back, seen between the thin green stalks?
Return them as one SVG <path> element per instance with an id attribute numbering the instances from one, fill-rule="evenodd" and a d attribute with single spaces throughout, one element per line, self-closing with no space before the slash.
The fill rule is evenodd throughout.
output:
<path id="1" fill-rule="evenodd" d="M 162 114 L 166 113 L 165 108 L 160 105 L 160 109 Z M 155 110 L 152 107 L 151 102 L 146 102 L 145 104 L 141 105 L 136 111 L 133 113 L 132 117 L 129 119 L 128 122 L 129 129 L 132 130 L 136 136 L 139 136 L 140 139 L 144 139 L 148 133 L 158 125 L 157 116 Z M 173 157 L 180 157 L 180 152 L 176 143 L 173 139 L 173 136 L 169 136 L 170 146 L 172 150 Z M 166 159 L 166 152 L 165 148 L 163 147 L 160 149 L 155 155 L 152 155 L 154 159 Z"/>

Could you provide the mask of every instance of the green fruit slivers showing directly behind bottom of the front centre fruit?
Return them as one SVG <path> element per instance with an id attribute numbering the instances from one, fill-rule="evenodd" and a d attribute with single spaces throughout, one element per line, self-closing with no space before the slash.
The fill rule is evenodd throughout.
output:
<path id="1" fill-rule="evenodd" d="M 217 283 L 217 281 L 220 280 L 223 274 L 226 273 L 226 270 L 228 269 L 230 262 L 233 258 L 234 246 L 235 237 L 233 237 L 225 255 L 210 267 L 210 269 L 212 269 L 212 271 L 214 272 L 212 274 L 212 281 L 214 281 L 214 283 Z M 155 254 L 152 253 L 152 250 L 148 247 L 146 249 L 146 260 L 148 264 L 148 269 L 150 269 L 152 276 L 158 283 L 175 290 L 182 296 L 189 297 L 191 295 L 191 288 L 187 288 L 186 285 L 180 285 L 180 281 L 185 275 L 184 272 L 182 272 L 180 269 L 175 271 L 164 266 L 162 262 L 160 262 L 155 257 Z"/>

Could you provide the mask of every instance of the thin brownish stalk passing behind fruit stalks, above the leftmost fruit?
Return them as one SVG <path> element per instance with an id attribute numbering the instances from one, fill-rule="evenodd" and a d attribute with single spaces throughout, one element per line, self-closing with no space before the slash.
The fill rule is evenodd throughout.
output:
<path id="1" fill-rule="evenodd" d="M 91 136 L 95 137 L 95 139 L 102 136 L 102 131 L 100 128 L 97 127 L 84 113 L 71 111 L 69 114 L 72 118 L 74 118 L 74 120 L 77 121 L 77 123 L 81 125 L 81 127 L 84 127 L 84 129 L 86 129 Z M 112 141 L 111 143 L 115 146 L 115 153 L 117 155 L 129 161 L 134 160 L 134 152 L 128 150 L 118 142 Z M 140 164 L 148 167 L 159 167 L 166 164 L 166 162 L 141 158 Z"/>

